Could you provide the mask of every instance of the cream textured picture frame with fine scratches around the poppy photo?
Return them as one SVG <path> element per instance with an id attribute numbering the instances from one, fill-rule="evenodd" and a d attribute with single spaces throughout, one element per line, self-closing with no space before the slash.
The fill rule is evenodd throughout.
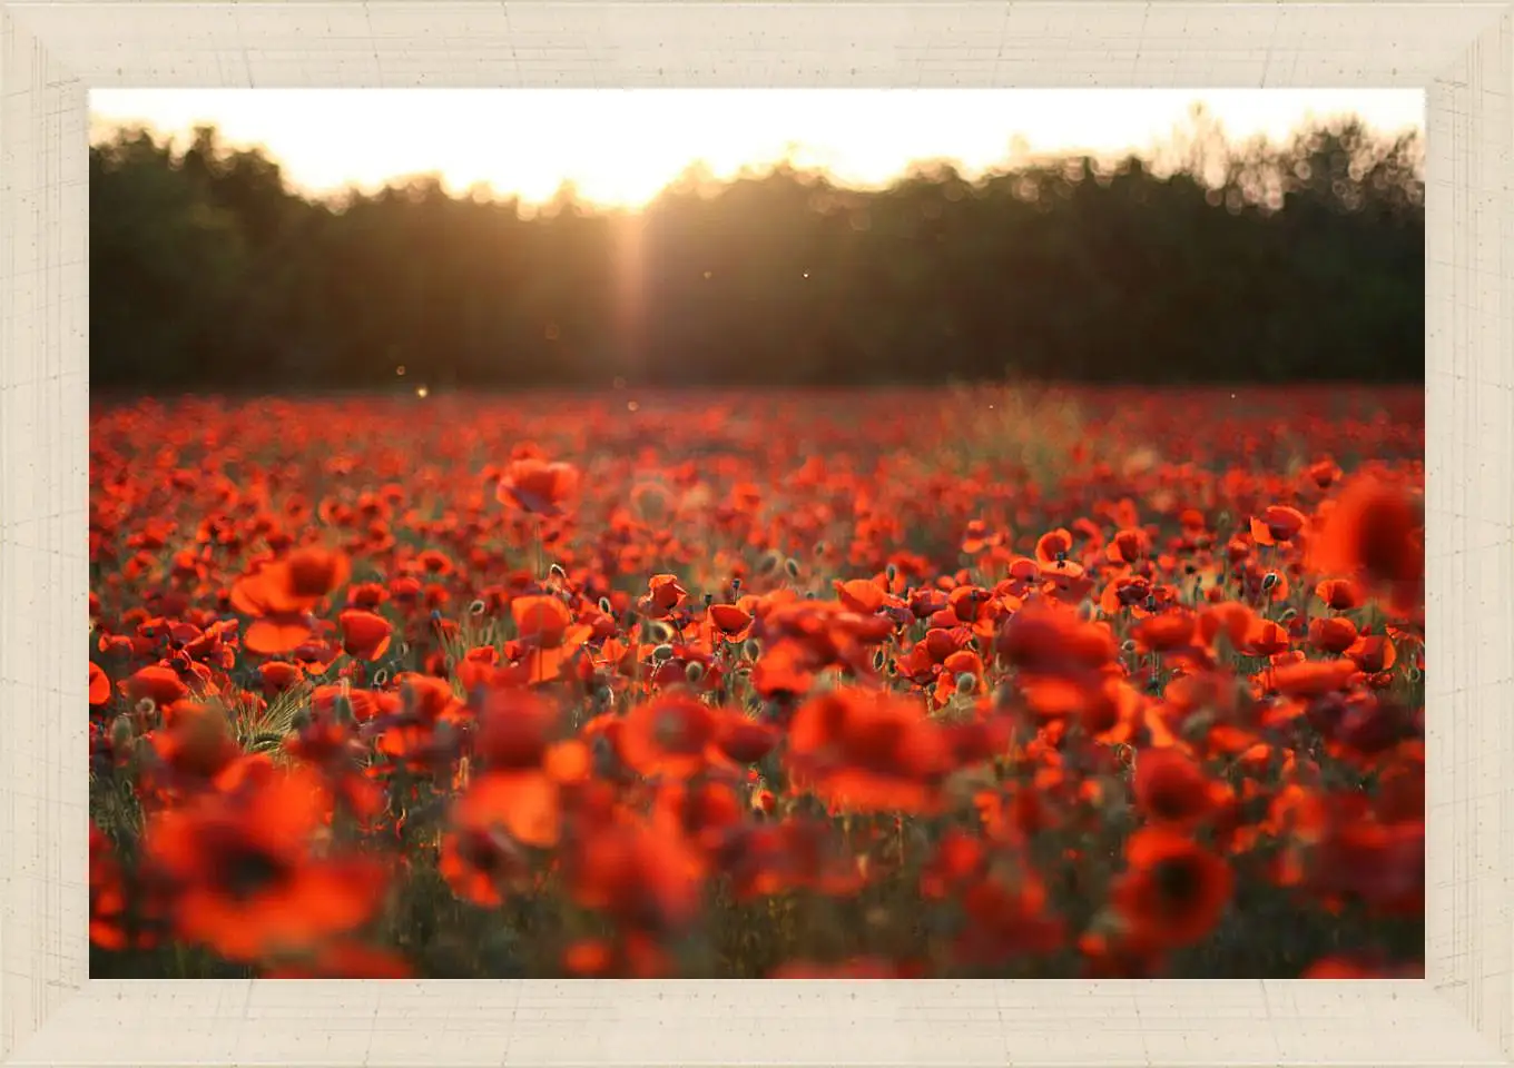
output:
<path id="1" fill-rule="evenodd" d="M 0 33 L 6 1063 L 1511 1063 L 1506 5 L 0 0 Z M 88 980 L 89 88 L 687 85 L 1428 91 L 1425 982 Z"/>

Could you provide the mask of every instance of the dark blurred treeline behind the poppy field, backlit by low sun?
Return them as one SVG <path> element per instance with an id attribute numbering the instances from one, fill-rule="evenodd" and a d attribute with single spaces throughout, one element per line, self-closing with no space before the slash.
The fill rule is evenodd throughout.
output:
<path id="1" fill-rule="evenodd" d="M 126 389 L 1416 381 L 1417 138 L 1196 127 L 1161 168 L 690 174 L 640 212 L 297 194 L 212 130 L 91 148 L 91 381 Z"/>

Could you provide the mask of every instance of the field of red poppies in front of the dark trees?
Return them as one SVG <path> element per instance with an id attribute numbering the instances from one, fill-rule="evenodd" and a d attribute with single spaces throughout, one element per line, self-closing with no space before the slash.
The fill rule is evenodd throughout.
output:
<path id="1" fill-rule="evenodd" d="M 1422 974 L 1423 449 L 1417 387 L 97 399 L 91 974 Z"/>

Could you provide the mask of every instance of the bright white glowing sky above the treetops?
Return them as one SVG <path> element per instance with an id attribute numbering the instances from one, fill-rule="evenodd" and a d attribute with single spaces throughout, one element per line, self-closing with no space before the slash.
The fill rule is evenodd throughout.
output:
<path id="1" fill-rule="evenodd" d="M 1343 113 L 1384 133 L 1423 129 L 1403 89 L 97 89 L 94 133 L 212 124 L 262 145 L 312 194 L 436 174 L 527 203 L 571 182 L 581 200 L 636 207 L 695 162 L 716 179 L 792 159 L 845 185 L 911 162 L 980 172 L 1026 154 L 1149 151 L 1195 103 L 1232 138 L 1285 138 Z"/>

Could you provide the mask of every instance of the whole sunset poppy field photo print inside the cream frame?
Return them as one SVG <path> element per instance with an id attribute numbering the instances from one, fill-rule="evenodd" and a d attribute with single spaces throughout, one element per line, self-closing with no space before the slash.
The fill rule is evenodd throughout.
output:
<path id="1" fill-rule="evenodd" d="M 1420 92 L 91 109 L 92 977 L 1423 976 Z"/>

